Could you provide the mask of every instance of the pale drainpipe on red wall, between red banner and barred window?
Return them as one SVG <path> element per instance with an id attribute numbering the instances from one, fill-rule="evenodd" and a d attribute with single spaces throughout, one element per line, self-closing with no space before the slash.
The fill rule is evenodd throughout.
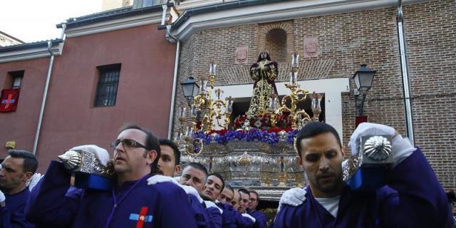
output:
<path id="1" fill-rule="evenodd" d="M 66 24 L 62 24 L 61 39 L 65 37 Z M 62 41 L 63 42 L 63 41 Z M 35 140 L 33 141 L 33 155 L 36 155 L 36 148 L 38 147 L 38 139 L 40 137 L 41 124 L 43 123 L 44 107 L 46 106 L 46 98 L 48 97 L 49 83 L 51 82 L 52 67 L 54 65 L 54 54 L 52 53 L 52 42 L 48 41 L 48 52 L 51 54 L 49 60 L 48 76 L 46 77 L 46 85 L 44 86 L 43 101 L 41 101 L 40 115 L 38 117 L 38 126 L 36 127 Z"/>

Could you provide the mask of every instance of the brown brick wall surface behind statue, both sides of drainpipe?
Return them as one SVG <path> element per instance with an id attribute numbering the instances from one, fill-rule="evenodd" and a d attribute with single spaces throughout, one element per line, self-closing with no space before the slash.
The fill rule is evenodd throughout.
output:
<path id="1" fill-rule="evenodd" d="M 455 8 L 454 1 L 404 6 L 415 141 L 447 189 L 456 187 Z M 289 55 L 297 51 L 303 56 L 304 38 L 318 38 L 318 56 L 301 58 L 301 79 L 351 77 L 361 63 L 377 71 L 364 113 L 371 122 L 391 125 L 405 135 L 395 8 L 198 31 L 182 43 L 178 82 L 190 75 L 207 76 L 211 60 L 217 61 L 219 85 L 248 82 L 247 69 L 259 50 L 267 48 L 265 34 L 273 28 L 287 32 Z M 249 47 L 246 64 L 234 63 L 239 46 Z M 289 62 L 279 67 L 289 68 Z M 354 83 L 351 87 L 352 92 L 342 96 L 344 145 L 355 125 Z M 178 86 L 177 101 L 182 100 Z"/>

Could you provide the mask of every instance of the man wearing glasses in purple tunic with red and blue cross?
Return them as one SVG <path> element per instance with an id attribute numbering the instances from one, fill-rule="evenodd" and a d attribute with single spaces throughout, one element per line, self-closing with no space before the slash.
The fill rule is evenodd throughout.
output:
<path id="1" fill-rule="evenodd" d="M 111 190 L 67 192 L 71 172 L 51 161 L 33 188 L 27 218 L 39 227 L 197 227 L 180 187 L 166 182 L 147 185 L 147 178 L 157 173 L 160 157 L 160 144 L 150 131 L 126 125 L 112 146 L 116 179 Z M 108 162 L 104 149 L 85 147 L 101 164 Z"/>

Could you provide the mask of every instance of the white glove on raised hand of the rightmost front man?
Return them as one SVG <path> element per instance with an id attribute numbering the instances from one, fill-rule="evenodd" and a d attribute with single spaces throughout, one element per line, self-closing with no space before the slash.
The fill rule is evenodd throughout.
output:
<path id="1" fill-rule="evenodd" d="M 393 150 L 394 155 L 393 167 L 398 165 L 416 150 L 410 141 L 399 135 L 394 128 L 377 123 L 361 123 L 358 125 L 355 132 L 353 132 L 353 135 L 351 135 L 350 142 L 348 142 L 353 155 L 358 155 L 360 139 L 362 136 L 366 135 L 390 135 L 392 138 L 391 149 Z"/>

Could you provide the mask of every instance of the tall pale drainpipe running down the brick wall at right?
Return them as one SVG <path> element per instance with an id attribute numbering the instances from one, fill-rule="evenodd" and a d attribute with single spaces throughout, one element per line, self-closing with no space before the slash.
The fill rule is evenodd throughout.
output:
<path id="1" fill-rule="evenodd" d="M 413 113 L 412 105 L 410 103 L 410 78 L 408 76 L 407 48 L 405 46 L 404 18 L 401 0 L 398 2 L 398 15 L 396 17 L 396 22 L 398 25 L 400 68 L 402 72 L 402 84 L 404 93 L 405 125 L 407 127 L 408 139 L 410 142 L 412 142 L 412 145 L 415 145 L 415 139 L 413 135 Z"/>

